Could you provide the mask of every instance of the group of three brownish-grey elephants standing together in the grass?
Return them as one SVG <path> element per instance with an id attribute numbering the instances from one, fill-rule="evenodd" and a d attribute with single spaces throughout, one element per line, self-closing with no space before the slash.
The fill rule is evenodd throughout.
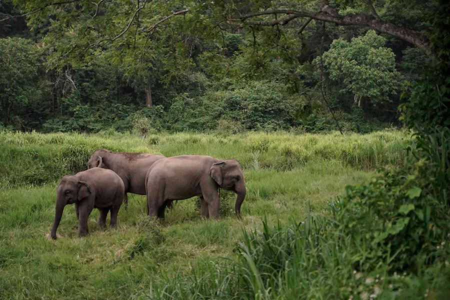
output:
<path id="1" fill-rule="evenodd" d="M 50 236 L 56 229 L 66 204 L 75 204 L 78 234 L 88 233 L 87 219 L 98 208 L 97 224 L 105 226 L 110 211 L 110 225 L 115 226 L 122 202 L 128 204 L 127 193 L 146 194 L 147 214 L 164 218 L 165 207 L 172 200 L 200 196 L 200 214 L 217 218 L 218 188 L 237 194 L 234 206 L 240 217 L 240 206 L 246 188 L 242 170 L 235 159 L 220 160 L 211 156 L 180 155 L 165 157 L 148 153 L 95 150 L 87 170 L 63 176 L 56 188 L 56 207 Z"/>

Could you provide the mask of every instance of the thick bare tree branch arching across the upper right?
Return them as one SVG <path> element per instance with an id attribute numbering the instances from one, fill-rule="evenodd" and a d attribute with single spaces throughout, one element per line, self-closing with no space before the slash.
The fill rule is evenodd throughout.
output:
<path id="1" fill-rule="evenodd" d="M 287 16 L 280 18 L 278 20 L 273 21 L 253 21 L 247 20 L 248 18 L 260 16 L 260 15 L 268 15 L 275 13 L 284 13 Z M 264 11 L 257 11 L 245 14 L 240 17 L 240 20 L 244 23 L 248 23 L 251 25 L 275 25 L 275 24 L 287 24 L 290 20 L 297 17 L 309 17 L 315 20 L 331 22 L 338 25 L 360 25 L 367 26 L 372 29 L 375 29 L 379 32 L 386 33 L 402 40 L 405 40 L 419 48 L 423 48 L 425 50 L 429 50 L 429 45 L 426 40 L 420 35 L 419 32 L 411 29 L 407 29 L 404 27 L 399 27 L 389 22 L 382 21 L 375 16 L 367 15 L 363 13 L 358 14 L 348 14 L 348 15 L 339 15 L 336 11 L 335 7 L 332 7 L 326 3 L 322 3 L 320 6 L 320 11 L 306 11 L 306 10 L 296 10 L 296 9 L 269 9 Z"/>

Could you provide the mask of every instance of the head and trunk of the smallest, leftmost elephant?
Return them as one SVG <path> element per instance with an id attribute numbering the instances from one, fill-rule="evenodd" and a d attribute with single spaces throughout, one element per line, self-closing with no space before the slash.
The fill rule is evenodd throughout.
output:
<path id="1" fill-rule="evenodd" d="M 78 180 L 76 176 L 62 177 L 61 182 L 56 188 L 56 208 L 53 227 L 51 228 L 51 238 L 56 239 L 56 229 L 61 220 L 64 206 L 78 202 L 90 193 L 91 187 L 87 182 Z"/>

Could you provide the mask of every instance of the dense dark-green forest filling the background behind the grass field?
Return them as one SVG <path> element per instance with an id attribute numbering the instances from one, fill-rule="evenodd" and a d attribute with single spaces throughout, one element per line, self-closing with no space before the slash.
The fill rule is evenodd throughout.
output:
<path id="1" fill-rule="evenodd" d="M 403 9 L 402 1 L 336 0 L 325 13 L 320 3 L 1 1 L 0 126 L 43 132 L 399 126 L 401 95 L 430 59 L 426 43 L 409 35 L 430 30 L 427 17 L 438 4 L 414 0 Z M 271 7 L 279 11 L 251 15 Z M 365 15 L 366 24 L 382 20 L 379 26 L 406 33 L 398 38 L 376 24 L 287 9 Z"/>

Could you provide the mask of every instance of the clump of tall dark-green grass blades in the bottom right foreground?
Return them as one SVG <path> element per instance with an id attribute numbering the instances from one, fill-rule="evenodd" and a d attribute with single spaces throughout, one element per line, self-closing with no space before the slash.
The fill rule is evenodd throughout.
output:
<path id="1" fill-rule="evenodd" d="M 333 230 L 330 219 L 309 216 L 305 222 L 292 220 L 287 225 L 262 223 L 260 231 L 244 231 L 234 259 L 200 259 L 187 274 L 162 274 L 140 297 L 374 299 L 429 292 L 439 298 L 450 291 L 450 269 L 439 263 L 418 275 L 389 272 L 389 261 L 361 268 L 358 261 L 369 249 Z"/>

